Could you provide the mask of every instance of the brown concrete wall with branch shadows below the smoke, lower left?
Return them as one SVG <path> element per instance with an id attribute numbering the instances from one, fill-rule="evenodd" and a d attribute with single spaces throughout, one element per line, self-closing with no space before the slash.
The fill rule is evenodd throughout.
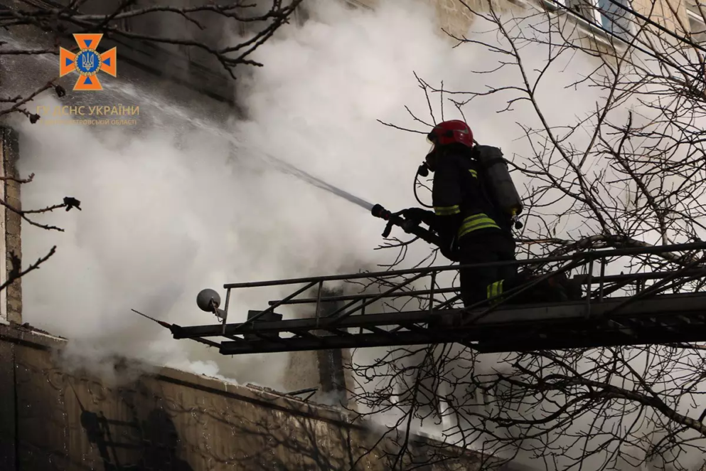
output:
<path id="1" fill-rule="evenodd" d="M 120 361 L 122 380 L 107 383 L 65 368 L 64 345 L 0 326 L 1 470 L 348 470 L 358 458 L 354 469 L 390 469 L 390 440 L 363 456 L 377 434 L 331 408 Z M 413 438 L 412 452 L 423 460 L 435 445 Z M 479 460 L 466 452 L 419 469 L 472 471 Z"/>

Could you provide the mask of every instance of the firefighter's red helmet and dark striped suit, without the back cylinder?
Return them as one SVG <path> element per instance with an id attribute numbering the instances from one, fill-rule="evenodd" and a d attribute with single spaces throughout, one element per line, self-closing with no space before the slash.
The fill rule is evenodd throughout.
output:
<path id="1" fill-rule="evenodd" d="M 427 139 L 432 148 L 425 166 L 434 172 L 434 212 L 410 208 L 402 215 L 427 223 L 439 235 L 442 254 L 460 265 L 515 260 L 513 221 L 498 210 L 488 193 L 477 158 L 479 146 L 474 146 L 469 126 L 459 120 L 445 121 L 435 126 Z M 459 278 L 461 297 L 469 306 L 501 295 L 506 280 L 515 283 L 517 268 L 464 268 L 459 270 Z"/>

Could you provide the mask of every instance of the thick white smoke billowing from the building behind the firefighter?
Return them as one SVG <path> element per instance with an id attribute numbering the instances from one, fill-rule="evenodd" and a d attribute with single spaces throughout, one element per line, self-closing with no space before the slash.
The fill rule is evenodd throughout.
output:
<path id="1" fill-rule="evenodd" d="M 262 46 L 257 58 L 265 66 L 241 80 L 237 98 L 247 121 L 230 117 L 211 123 L 212 129 L 192 123 L 141 132 L 17 121 L 21 173 L 36 174 L 33 184 L 23 186 L 23 206 L 46 206 L 63 196 L 82 201 L 80 212 L 37 218 L 65 233 L 23 225 L 25 265 L 58 245 L 41 270 L 23 279 L 24 320 L 70 338 L 74 355 L 97 364 L 127 354 L 240 383 L 279 386 L 286 354 L 223 357 L 172 339 L 130 309 L 181 325 L 210 324 L 215 319 L 195 303 L 204 287 L 225 295 L 225 282 L 354 272 L 389 262 L 373 250 L 382 221 L 263 164 L 262 155 L 390 209 L 417 206 L 412 179 L 427 150 L 424 135 L 377 120 L 427 131 L 405 110 L 407 105 L 432 120 L 413 72 L 434 85 L 444 80 L 446 90 L 485 91 L 489 76 L 473 71 L 498 66 L 498 55 L 484 48 L 451 48 L 435 26 L 434 9 L 422 2 L 387 0 L 374 12 L 312 3 L 311 20 Z M 527 48 L 523 57 L 527 70 L 537 70 L 545 51 Z M 598 91 L 577 93 L 564 86 L 593 67 L 567 55 L 552 68 L 551 80 L 537 90 L 550 125 L 592 110 Z M 493 86 L 515 83 L 517 71 L 507 69 L 499 79 L 492 75 Z M 142 89 L 121 90 L 137 100 L 141 114 L 166 122 L 176 118 L 170 110 L 178 104 Z M 529 155 L 516 123 L 533 126 L 537 116 L 527 102 L 515 103 L 512 115 L 496 113 L 509 98 L 498 93 L 478 99 L 464 108 L 466 121 L 479 142 L 502 147 L 510 158 Z M 95 100 L 100 103 L 101 95 Z M 439 121 L 438 97 L 432 100 Z M 36 102 L 60 104 L 51 97 Z M 444 118 L 458 117 L 447 104 Z M 427 250 L 415 243 L 410 260 Z M 293 290 L 236 292 L 230 320 L 242 320 L 247 309 L 262 309 L 267 300 Z"/>

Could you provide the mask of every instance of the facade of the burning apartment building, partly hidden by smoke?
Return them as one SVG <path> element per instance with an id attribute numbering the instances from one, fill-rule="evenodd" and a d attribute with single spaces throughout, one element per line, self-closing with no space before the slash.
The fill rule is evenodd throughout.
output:
<path id="1" fill-rule="evenodd" d="M 340 1 L 353 8 L 375 9 L 385 0 Z M 463 36 L 473 23 L 473 14 L 459 1 L 428 1 L 437 11 L 439 27 L 453 35 Z M 630 28 L 625 26 L 624 12 L 616 10 L 609 0 L 493 1 L 508 11 L 537 9 L 567 16 L 585 33 L 587 41 L 603 48 L 613 47 L 614 43 L 600 28 L 619 37 Z M 649 0 L 633 0 L 631 6 L 672 31 L 689 33 L 696 41 L 706 40 L 706 9 L 691 0 L 655 1 L 656 8 Z M 26 3 L 58 8 L 67 1 L 0 0 L 0 8 Z M 109 0 L 94 4 L 110 11 L 118 3 Z M 484 8 L 481 0 L 469 4 L 479 10 Z M 139 5 L 138 2 L 135 8 Z M 305 2 L 296 21 L 304 22 L 306 17 Z M 168 25 L 149 18 L 124 20 L 122 24 L 136 32 L 180 28 L 193 38 L 216 41 L 218 38 L 209 35 L 221 31 L 222 25 L 210 26 L 202 31 L 183 18 Z M 241 33 L 247 30 L 243 28 Z M 52 41 L 29 30 L 24 35 L 18 39 L 31 38 L 44 44 Z M 197 112 L 239 112 L 230 78 L 208 53 L 178 45 L 154 46 L 111 38 L 103 41 L 102 48 L 106 50 L 119 48 L 121 78 L 155 93 L 169 88 L 170 95 L 178 95 Z M 62 45 L 71 46 L 70 41 Z M 7 71 L 16 72 L 15 65 L 8 59 L 0 60 L 0 86 L 4 90 L 11 90 L 14 85 Z M 47 76 L 33 68 L 23 70 L 23 75 L 37 84 L 46 81 Z M 23 86 L 31 85 L 32 80 Z M 70 104 L 80 104 L 70 100 Z M 0 323 L 11 324 L 0 327 L 0 371 L 5 379 L 10 379 L 0 382 L 0 469 L 107 470 L 116 469 L 121 463 L 124 469 L 140 463 L 154 469 L 183 470 L 348 469 L 350 457 L 370 445 L 365 438 L 368 432 L 353 426 L 341 411 L 312 406 L 272 391 L 232 386 L 177 371 L 159 371 L 119 386 L 61 371 L 50 351 L 62 348 L 63 339 L 18 327 L 21 280 L 7 284 L 9 277 L 21 269 L 21 184 L 16 171 L 19 156 L 16 132 L 0 127 L 0 198 L 14 208 L 0 207 L 0 260 L 4 260 L 0 263 L 0 285 L 4 286 L 0 290 Z M 343 403 L 354 408 L 346 396 L 346 389 L 353 387 L 346 374 L 346 361 L 345 351 L 292 354 L 290 371 L 297 374 L 287 379 L 289 390 L 316 387 L 319 390 L 312 401 Z M 420 450 L 424 448 L 419 446 Z M 456 453 L 465 461 L 451 460 L 444 465 L 456 467 L 429 469 L 473 470 L 477 465 L 478 456 L 464 455 L 460 450 Z M 385 469 L 383 455 L 382 451 L 371 454 L 363 467 Z M 159 462 L 163 463 L 161 468 Z M 164 467 L 164 463 L 170 467 Z"/>

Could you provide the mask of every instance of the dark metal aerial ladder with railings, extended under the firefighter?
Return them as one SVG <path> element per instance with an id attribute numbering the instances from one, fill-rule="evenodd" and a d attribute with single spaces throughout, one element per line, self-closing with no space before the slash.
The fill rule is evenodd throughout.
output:
<path id="1" fill-rule="evenodd" d="M 383 235 L 389 235 L 391 226 L 397 225 L 434 243 L 433 234 L 416 226 L 405 226 L 404 219 L 387 211 L 380 213 L 380 209 L 376 205 L 373 213 L 378 211 L 375 216 L 388 221 Z M 706 292 L 699 289 L 679 292 L 685 283 L 698 282 L 706 276 L 705 249 L 706 242 L 694 242 L 466 265 L 513 264 L 520 268 L 564 263 L 558 271 L 582 268 L 585 273 L 573 277 L 582 286 L 582 299 L 570 302 L 513 304 L 513 298 L 532 290 L 544 277 L 555 274 L 555 270 L 503 293 L 503 298 L 495 303 L 491 299 L 459 307 L 459 289 L 441 287 L 437 279 L 462 265 L 444 265 L 227 283 L 223 285 L 225 304 L 215 290 L 198 294 L 198 307 L 215 314 L 217 322 L 213 324 L 181 326 L 150 319 L 168 328 L 174 339 L 191 339 L 213 346 L 224 355 L 451 342 L 482 353 L 706 342 Z M 683 253 L 685 260 L 678 270 L 606 274 L 609 260 L 614 258 L 676 253 Z M 380 288 L 377 292 L 326 294 L 327 284 L 346 282 L 367 285 L 377 282 Z M 412 289 L 411 285 L 423 285 L 424 289 Z M 279 290 L 282 286 L 292 287 L 292 293 L 270 300 L 265 309 L 248 310 L 244 322 L 229 322 L 235 290 L 268 287 Z M 665 294 L 669 291 L 672 294 Z M 390 302 L 414 307 L 391 312 L 379 307 Z M 335 307 L 331 308 L 333 303 Z M 285 317 L 281 310 L 292 305 L 308 307 L 311 317 Z"/>

